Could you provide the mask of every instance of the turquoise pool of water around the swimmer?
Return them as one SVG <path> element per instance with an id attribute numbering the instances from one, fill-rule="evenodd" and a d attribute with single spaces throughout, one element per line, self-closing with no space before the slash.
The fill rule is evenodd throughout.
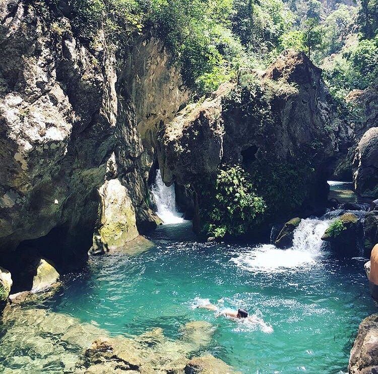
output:
<path id="1" fill-rule="evenodd" d="M 243 373 L 345 372 L 358 325 L 375 311 L 364 259 L 329 254 L 315 237 L 322 223 L 306 221 L 288 251 L 199 243 L 190 223 L 162 226 L 151 250 L 92 259 L 46 306 L 112 334 L 162 327 L 175 338 L 184 323 L 208 321 L 216 331 L 207 351 Z M 244 307 L 254 321 L 194 308 L 220 298 L 220 309 Z"/>

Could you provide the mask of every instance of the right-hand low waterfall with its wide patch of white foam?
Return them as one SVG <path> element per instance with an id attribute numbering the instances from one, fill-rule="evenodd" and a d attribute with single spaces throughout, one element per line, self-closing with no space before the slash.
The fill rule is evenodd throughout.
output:
<path id="1" fill-rule="evenodd" d="M 322 255 L 322 235 L 331 220 L 302 219 L 294 231 L 293 245 L 281 250 L 273 244 L 263 244 L 232 259 L 237 266 L 254 273 L 297 271 L 316 264 Z"/>

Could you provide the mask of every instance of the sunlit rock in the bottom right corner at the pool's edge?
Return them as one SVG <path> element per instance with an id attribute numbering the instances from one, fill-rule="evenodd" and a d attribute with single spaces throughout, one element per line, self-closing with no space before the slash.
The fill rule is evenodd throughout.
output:
<path id="1" fill-rule="evenodd" d="M 350 352 L 348 370 L 350 374 L 378 372 L 378 314 L 361 322 Z"/>

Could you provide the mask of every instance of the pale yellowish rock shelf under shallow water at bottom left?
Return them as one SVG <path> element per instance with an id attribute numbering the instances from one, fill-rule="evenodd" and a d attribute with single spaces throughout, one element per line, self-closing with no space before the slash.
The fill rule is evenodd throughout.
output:
<path id="1" fill-rule="evenodd" d="M 213 356 L 192 357 L 193 352 L 206 349 L 210 343 L 214 327 L 207 322 L 187 323 L 177 340 L 164 336 L 160 328 L 133 338 L 110 337 L 94 324 L 68 315 L 20 305 L 7 307 L 9 311 L 0 324 L 1 372 L 44 372 L 46 368 L 86 374 L 184 374 L 191 368 L 203 373 L 233 372 Z"/>

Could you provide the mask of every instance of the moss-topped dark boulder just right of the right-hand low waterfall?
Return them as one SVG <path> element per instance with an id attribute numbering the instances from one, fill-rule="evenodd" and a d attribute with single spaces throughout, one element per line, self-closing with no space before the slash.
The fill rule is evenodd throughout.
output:
<path id="1" fill-rule="evenodd" d="M 351 255 L 356 253 L 358 238 L 362 234 L 362 225 L 358 217 L 353 213 L 345 213 L 330 224 L 322 240 L 328 241 L 335 252 Z"/>

